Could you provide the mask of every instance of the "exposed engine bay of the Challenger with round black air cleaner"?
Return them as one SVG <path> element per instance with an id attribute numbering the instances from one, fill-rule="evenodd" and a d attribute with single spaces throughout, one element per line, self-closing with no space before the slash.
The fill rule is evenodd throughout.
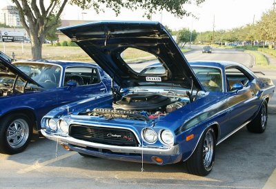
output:
<path id="1" fill-rule="evenodd" d="M 95 108 L 79 115 L 105 117 L 106 119 L 132 119 L 150 121 L 168 115 L 189 103 L 188 97 L 168 97 L 156 93 L 127 94 L 113 101 L 112 108 Z"/>

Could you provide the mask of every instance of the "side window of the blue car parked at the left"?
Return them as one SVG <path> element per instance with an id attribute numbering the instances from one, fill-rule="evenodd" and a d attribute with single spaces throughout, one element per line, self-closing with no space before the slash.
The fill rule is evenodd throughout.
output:
<path id="1" fill-rule="evenodd" d="M 69 81 L 75 81 L 77 86 L 88 86 L 101 81 L 97 68 L 70 67 L 66 68 L 63 86 Z"/>

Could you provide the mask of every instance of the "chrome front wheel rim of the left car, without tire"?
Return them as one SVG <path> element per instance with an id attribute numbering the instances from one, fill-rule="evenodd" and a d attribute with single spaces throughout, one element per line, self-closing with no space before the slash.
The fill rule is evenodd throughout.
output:
<path id="1" fill-rule="evenodd" d="M 11 148 L 20 148 L 29 137 L 29 126 L 24 119 L 15 119 L 7 130 L 7 141 Z"/>

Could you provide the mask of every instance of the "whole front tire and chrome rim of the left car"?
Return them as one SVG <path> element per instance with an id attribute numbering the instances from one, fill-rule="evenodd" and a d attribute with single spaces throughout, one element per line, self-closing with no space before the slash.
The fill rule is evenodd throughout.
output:
<path id="1" fill-rule="evenodd" d="M 0 152 L 8 155 L 23 152 L 32 137 L 30 119 L 23 114 L 3 117 L 0 122 Z"/>

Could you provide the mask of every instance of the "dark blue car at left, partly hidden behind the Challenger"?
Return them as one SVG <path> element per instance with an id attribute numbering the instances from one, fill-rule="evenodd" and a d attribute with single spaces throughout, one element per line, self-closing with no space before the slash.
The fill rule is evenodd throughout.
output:
<path id="1" fill-rule="evenodd" d="M 17 61 L 0 52 L 0 152 L 23 151 L 41 118 L 57 106 L 110 91 L 110 77 L 92 63 Z"/>

